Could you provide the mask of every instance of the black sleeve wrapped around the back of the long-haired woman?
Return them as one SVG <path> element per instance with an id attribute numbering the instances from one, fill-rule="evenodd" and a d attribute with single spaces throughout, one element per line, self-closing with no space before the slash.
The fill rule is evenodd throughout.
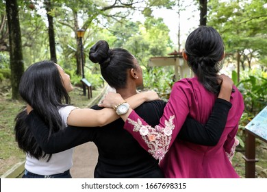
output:
<path id="1" fill-rule="evenodd" d="M 55 154 L 92 141 L 98 129 L 68 126 L 58 132 L 52 133 L 49 137 L 49 128 L 34 110 L 27 116 L 26 123 L 34 134 L 36 142 L 46 154 Z"/>

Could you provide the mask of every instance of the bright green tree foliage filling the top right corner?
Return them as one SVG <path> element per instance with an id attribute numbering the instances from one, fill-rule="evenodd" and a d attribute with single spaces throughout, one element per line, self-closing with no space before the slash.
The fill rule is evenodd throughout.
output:
<path id="1" fill-rule="evenodd" d="M 207 24 L 225 41 L 227 53 L 266 60 L 266 1 L 208 1 Z M 264 64 L 264 62 L 262 62 Z M 266 62 L 265 62 L 266 64 Z"/>

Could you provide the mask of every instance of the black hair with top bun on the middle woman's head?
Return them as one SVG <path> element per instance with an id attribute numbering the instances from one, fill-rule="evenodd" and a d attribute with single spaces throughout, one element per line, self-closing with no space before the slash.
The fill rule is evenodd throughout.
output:
<path id="1" fill-rule="evenodd" d="M 125 88 L 127 69 L 136 69 L 134 57 L 126 49 L 110 49 L 105 40 L 99 40 L 89 52 L 89 59 L 99 63 L 101 75 L 113 88 Z"/>

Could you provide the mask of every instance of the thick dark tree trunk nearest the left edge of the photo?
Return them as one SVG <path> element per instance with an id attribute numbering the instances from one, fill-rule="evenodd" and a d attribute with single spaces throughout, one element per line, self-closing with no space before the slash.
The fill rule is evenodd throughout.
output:
<path id="1" fill-rule="evenodd" d="M 8 16 L 10 38 L 10 71 L 12 99 L 19 99 L 18 86 L 24 72 L 23 53 L 21 46 L 21 27 L 18 19 L 18 5 L 16 0 L 5 1 L 5 10 Z"/>

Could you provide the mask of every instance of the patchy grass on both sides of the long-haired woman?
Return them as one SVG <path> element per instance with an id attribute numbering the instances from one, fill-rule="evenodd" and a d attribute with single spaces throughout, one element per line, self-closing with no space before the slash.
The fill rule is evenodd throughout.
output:
<path id="1" fill-rule="evenodd" d="M 92 91 L 92 98 L 83 95 L 81 88 L 75 88 L 71 93 L 71 103 L 79 108 L 85 108 L 100 90 Z M 9 82 L 0 82 L 0 176 L 16 163 L 25 160 L 25 154 L 18 148 L 14 137 L 14 119 L 25 106 L 23 101 L 12 100 Z"/>

